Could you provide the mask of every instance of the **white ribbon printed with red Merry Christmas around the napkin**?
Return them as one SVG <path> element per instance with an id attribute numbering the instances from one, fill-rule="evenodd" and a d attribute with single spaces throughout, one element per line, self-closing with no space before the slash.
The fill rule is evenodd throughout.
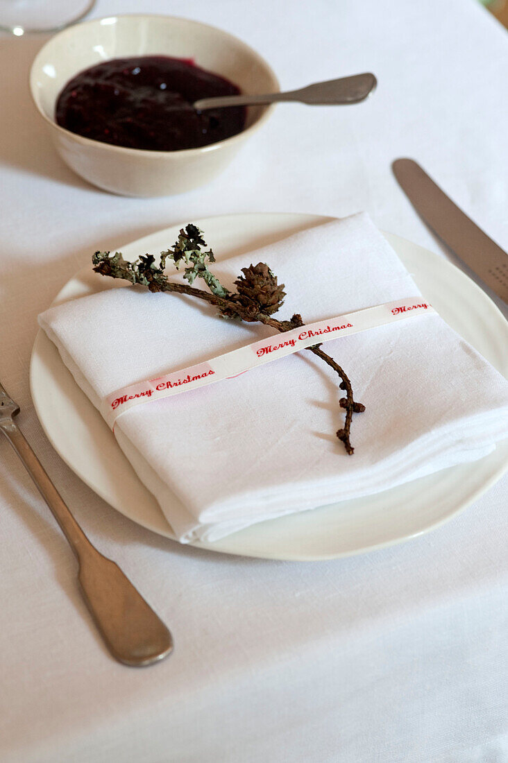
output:
<path id="1" fill-rule="evenodd" d="M 134 405 L 169 398 L 174 394 L 212 384 L 213 381 L 233 378 L 254 369 L 257 365 L 297 353 L 300 349 L 314 344 L 328 342 L 337 339 L 338 336 L 367 331 L 396 320 L 406 320 L 423 313 L 432 314 L 435 310 L 432 305 L 422 302 L 421 297 L 410 297 L 267 336 L 266 339 L 234 349 L 231 353 L 219 355 L 212 360 L 118 389 L 102 401 L 101 413 L 113 429 L 118 416 Z"/>

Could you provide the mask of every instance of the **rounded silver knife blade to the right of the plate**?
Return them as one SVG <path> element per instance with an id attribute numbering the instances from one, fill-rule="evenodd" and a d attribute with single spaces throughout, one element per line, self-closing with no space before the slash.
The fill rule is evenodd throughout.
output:
<path id="1" fill-rule="evenodd" d="M 392 169 L 422 220 L 508 304 L 508 254 L 413 159 L 396 159 Z"/>

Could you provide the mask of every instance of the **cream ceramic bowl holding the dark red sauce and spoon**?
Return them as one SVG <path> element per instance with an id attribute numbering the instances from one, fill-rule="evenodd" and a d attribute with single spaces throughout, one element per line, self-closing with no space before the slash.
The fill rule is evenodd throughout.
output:
<path id="1" fill-rule="evenodd" d="M 56 34 L 37 54 L 30 73 L 34 103 L 63 161 L 84 179 L 127 196 L 165 196 L 212 180 L 273 106 L 248 108 L 245 129 L 226 140 L 181 151 L 147 151 L 100 143 L 55 122 L 63 86 L 78 72 L 125 56 L 193 58 L 197 66 L 235 82 L 242 92 L 279 90 L 270 66 L 248 45 L 215 27 L 186 18 L 128 15 L 76 24 Z"/>

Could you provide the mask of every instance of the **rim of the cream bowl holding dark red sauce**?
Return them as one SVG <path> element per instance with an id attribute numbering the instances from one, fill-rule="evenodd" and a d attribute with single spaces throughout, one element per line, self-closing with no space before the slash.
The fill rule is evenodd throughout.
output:
<path id="1" fill-rule="evenodd" d="M 39 89 L 37 89 L 35 84 L 35 69 L 37 66 L 40 68 L 40 59 L 43 57 L 44 52 L 46 51 L 47 47 L 50 47 L 51 43 L 53 43 L 54 40 L 57 39 L 57 37 L 65 37 L 70 36 L 72 34 L 76 33 L 76 30 L 79 30 L 80 27 L 83 26 L 91 26 L 93 24 L 99 25 L 101 22 L 107 20 L 107 19 L 115 19 L 117 21 L 118 19 L 124 19 L 124 18 L 147 18 L 147 19 L 161 19 L 163 21 L 186 21 L 189 24 L 195 24 L 199 27 L 205 27 L 206 29 L 212 29 L 213 31 L 218 31 L 221 34 L 223 34 L 225 37 L 231 38 L 231 40 L 235 40 L 236 43 L 241 43 L 241 45 L 248 50 L 248 53 L 251 53 L 251 55 L 256 59 L 262 66 L 264 66 L 265 69 L 267 69 L 268 73 L 273 79 L 273 82 L 276 83 L 277 89 L 274 92 L 280 92 L 280 82 L 277 78 L 277 75 L 273 71 L 270 64 L 267 62 L 266 59 L 263 58 L 263 56 L 260 55 L 260 53 L 257 53 L 257 50 L 254 50 L 253 47 L 248 45 L 248 43 L 245 43 L 244 40 L 241 40 L 240 37 L 236 37 L 235 34 L 231 34 L 231 32 L 227 32 L 221 27 L 215 27 L 212 24 L 205 24 L 203 21 L 195 21 L 193 18 L 187 18 L 186 16 L 173 16 L 173 15 L 166 15 L 166 14 L 157 14 L 157 13 L 124 13 L 124 14 L 112 14 L 108 16 L 102 16 L 101 18 L 92 18 L 89 21 L 83 21 L 80 24 L 73 24 L 70 27 L 66 27 L 62 31 L 58 32 L 57 34 L 53 34 L 53 37 L 50 37 L 50 40 L 47 40 L 46 43 L 44 43 L 43 47 L 40 48 L 40 50 L 37 52 L 37 55 L 35 56 L 34 60 L 31 63 L 30 72 L 28 75 L 28 85 L 30 89 L 30 95 L 32 98 L 32 101 L 34 101 L 35 108 L 37 108 L 37 111 L 39 112 L 40 116 L 44 119 L 46 124 L 48 124 L 53 130 L 56 130 L 57 133 L 63 134 L 67 137 L 70 137 L 71 140 L 75 140 L 76 143 L 81 143 L 83 146 L 102 146 L 104 150 L 112 150 L 115 153 L 123 154 L 124 156 L 142 156 L 144 158 L 153 156 L 154 159 L 162 159 L 167 158 L 169 156 L 199 156 L 199 154 L 202 153 L 208 153 L 209 151 L 215 151 L 220 149 L 225 144 L 232 144 L 232 143 L 238 143 L 239 140 L 243 140 L 244 137 L 248 136 L 251 132 L 254 132 L 254 130 L 259 129 L 259 127 L 264 123 L 264 121 L 267 120 L 267 118 L 272 113 L 273 109 L 275 108 L 275 104 L 267 105 L 265 110 L 260 114 L 260 117 L 257 118 L 256 121 L 254 121 L 252 124 L 250 124 L 248 127 L 246 127 L 244 130 L 241 130 L 241 132 L 231 135 L 228 138 L 224 138 L 223 140 L 218 140 L 215 143 L 209 143 L 208 146 L 198 146 L 197 148 L 185 148 L 185 149 L 176 149 L 173 151 L 152 151 L 150 149 L 142 149 L 142 148 L 129 148 L 128 146 L 116 146 L 115 143 L 105 143 L 102 140 L 93 140 L 92 138 L 84 137 L 83 135 L 79 135 L 78 133 L 73 133 L 71 130 L 66 130 L 65 127 L 61 127 L 60 124 L 57 124 L 54 119 L 51 119 L 47 116 L 47 114 L 44 112 L 43 108 L 40 106 L 38 98 L 37 98 L 37 92 Z M 76 72 L 76 74 L 79 72 Z"/>

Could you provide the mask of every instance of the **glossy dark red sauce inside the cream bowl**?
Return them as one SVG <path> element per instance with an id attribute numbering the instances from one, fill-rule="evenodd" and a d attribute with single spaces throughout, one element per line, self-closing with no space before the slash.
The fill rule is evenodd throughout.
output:
<path id="1" fill-rule="evenodd" d="M 193 102 L 237 95 L 237 85 L 167 56 L 119 58 L 79 72 L 57 101 L 57 124 L 115 146 L 177 151 L 208 146 L 244 129 L 245 108 L 196 111 Z"/>

